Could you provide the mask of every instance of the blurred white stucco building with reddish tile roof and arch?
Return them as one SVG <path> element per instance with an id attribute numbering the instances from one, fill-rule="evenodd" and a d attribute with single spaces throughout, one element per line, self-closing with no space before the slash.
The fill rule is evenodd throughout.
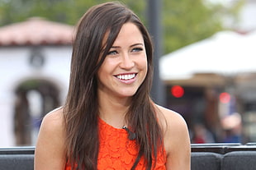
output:
<path id="1" fill-rule="evenodd" d="M 0 27 L 1 147 L 34 145 L 41 117 L 64 103 L 73 33 L 42 18 Z"/>

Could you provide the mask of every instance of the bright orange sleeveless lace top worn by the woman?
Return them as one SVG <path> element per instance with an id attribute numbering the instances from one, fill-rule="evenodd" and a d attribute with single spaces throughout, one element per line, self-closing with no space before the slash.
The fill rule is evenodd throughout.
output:
<path id="1" fill-rule="evenodd" d="M 100 146 L 97 159 L 99 170 L 130 170 L 137 158 L 135 140 L 129 140 L 125 129 L 117 129 L 99 119 Z M 159 152 L 154 170 L 165 170 L 166 153 Z M 140 159 L 136 169 L 145 169 L 144 159 Z M 71 170 L 66 165 L 65 170 Z"/>

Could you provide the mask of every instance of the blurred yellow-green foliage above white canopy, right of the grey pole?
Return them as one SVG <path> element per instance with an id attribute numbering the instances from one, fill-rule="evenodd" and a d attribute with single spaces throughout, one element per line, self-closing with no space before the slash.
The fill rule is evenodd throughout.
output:
<path id="1" fill-rule="evenodd" d="M 164 53 L 170 53 L 226 29 L 222 17 L 236 18 L 243 2 L 240 0 L 231 7 L 223 7 L 206 0 L 164 0 Z"/>

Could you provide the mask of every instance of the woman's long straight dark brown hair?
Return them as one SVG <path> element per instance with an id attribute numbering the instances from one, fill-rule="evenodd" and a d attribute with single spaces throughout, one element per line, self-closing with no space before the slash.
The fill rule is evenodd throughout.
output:
<path id="1" fill-rule="evenodd" d="M 107 2 L 91 7 L 78 23 L 73 42 L 69 93 L 64 104 L 67 159 L 72 169 L 97 169 L 99 147 L 97 118 L 97 71 L 114 43 L 121 26 L 134 23 L 145 41 L 148 72 L 133 96 L 126 121 L 135 131 L 139 154 L 132 169 L 142 157 L 146 169 L 154 167 L 163 135 L 149 97 L 153 76 L 153 46 L 148 31 L 133 11 L 119 2 Z M 102 44 L 108 35 L 106 44 Z M 103 49 L 104 47 L 104 49 Z"/>

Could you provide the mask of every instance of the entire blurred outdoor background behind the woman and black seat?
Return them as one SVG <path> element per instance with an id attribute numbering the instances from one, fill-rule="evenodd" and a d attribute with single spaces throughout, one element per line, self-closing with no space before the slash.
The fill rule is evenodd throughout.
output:
<path id="1" fill-rule="evenodd" d="M 0 0 L 0 147 L 35 145 L 67 94 L 74 26 L 101 2 Z M 152 98 L 182 114 L 192 143 L 256 142 L 256 0 L 120 2 L 152 33 Z"/>

